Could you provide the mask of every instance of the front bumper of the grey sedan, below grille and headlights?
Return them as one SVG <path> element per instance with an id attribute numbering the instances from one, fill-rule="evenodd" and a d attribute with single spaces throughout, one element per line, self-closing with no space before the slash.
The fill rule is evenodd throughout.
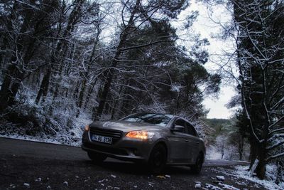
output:
<path id="1" fill-rule="evenodd" d="M 147 162 L 153 148 L 152 140 L 131 139 L 122 134 L 122 137 L 114 144 L 94 142 L 89 132 L 84 132 L 82 137 L 82 149 L 87 152 L 97 152 L 125 161 Z"/>

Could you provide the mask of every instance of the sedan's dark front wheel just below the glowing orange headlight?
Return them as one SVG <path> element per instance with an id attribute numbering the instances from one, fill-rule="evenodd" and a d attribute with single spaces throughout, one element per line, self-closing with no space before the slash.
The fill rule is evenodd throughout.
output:
<path id="1" fill-rule="evenodd" d="M 148 159 L 148 167 L 153 174 L 159 174 L 165 168 L 167 162 L 167 151 L 163 144 L 153 147 Z"/>

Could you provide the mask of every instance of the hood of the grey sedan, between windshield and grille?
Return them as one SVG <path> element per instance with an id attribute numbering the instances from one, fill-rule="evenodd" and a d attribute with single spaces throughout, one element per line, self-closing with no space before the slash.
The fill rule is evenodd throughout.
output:
<path id="1" fill-rule="evenodd" d="M 106 121 L 106 122 L 92 122 L 89 127 L 98 127 L 106 130 L 120 130 L 129 132 L 133 130 L 165 130 L 165 127 L 158 125 L 151 125 L 145 122 L 126 122 L 126 121 Z"/>

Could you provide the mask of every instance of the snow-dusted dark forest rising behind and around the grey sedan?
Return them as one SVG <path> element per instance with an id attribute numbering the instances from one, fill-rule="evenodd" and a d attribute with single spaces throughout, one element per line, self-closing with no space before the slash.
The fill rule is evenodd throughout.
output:
<path id="1" fill-rule="evenodd" d="M 192 31 L 198 13 L 178 21 L 190 1 L 1 0 L 1 135 L 79 143 L 86 122 L 167 112 L 190 120 L 219 152 L 230 137 L 260 179 L 270 163 L 281 176 L 284 2 L 200 1 L 231 14 L 219 38 L 234 51 L 220 55 L 217 72 L 204 67 L 209 41 Z M 224 80 L 237 92 L 228 107 L 239 109 L 214 127 L 202 101 Z"/>

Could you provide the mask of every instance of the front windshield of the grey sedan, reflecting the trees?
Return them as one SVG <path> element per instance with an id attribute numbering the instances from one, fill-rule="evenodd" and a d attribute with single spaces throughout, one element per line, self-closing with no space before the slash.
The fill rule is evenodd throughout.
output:
<path id="1" fill-rule="evenodd" d="M 165 125 L 167 125 L 171 119 L 173 119 L 173 115 L 147 113 L 130 115 L 129 117 L 125 117 L 121 120 L 128 122 L 146 122 L 149 124 L 165 127 Z"/>

